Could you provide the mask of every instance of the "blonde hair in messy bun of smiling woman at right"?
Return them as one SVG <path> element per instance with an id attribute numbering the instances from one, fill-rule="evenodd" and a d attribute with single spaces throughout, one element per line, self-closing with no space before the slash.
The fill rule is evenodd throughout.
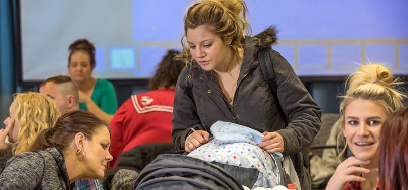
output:
<path id="1" fill-rule="evenodd" d="M 382 64 L 367 64 L 361 66 L 356 72 L 347 77 L 346 93 L 340 96 L 340 113 L 342 114 L 342 126 L 344 126 L 344 111 L 346 107 L 356 99 L 371 100 L 379 103 L 385 108 L 388 115 L 403 107 L 403 99 L 407 96 L 396 89 L 403 84 L 398 78 L 394 78 L 391 70 Z M 341 131 L 341 128 L 339 129 Z M 341 156 L 347 149 L 347 142 L 344 142 L 342 135 L 338 135 L 339 141 L 345 144 Z M 341 142 L 340 142 L 341 143 Z"/>

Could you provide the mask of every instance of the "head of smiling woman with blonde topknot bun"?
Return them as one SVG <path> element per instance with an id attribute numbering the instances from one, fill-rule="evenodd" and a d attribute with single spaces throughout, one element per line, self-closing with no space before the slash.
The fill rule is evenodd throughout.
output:
<path id="1" fill-rule="evenodd" d="M 378 162 L 381 126 L 403 106 L 405 95 L 394 89 L 398 84 L 390 69 L 381 64 L 361 66 L 348 77 L 340 111 L 346 145 L 357 159 Z"/>

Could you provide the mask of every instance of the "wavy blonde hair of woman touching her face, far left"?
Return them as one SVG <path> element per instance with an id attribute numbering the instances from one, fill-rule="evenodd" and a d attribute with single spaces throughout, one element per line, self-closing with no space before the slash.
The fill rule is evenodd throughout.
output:
<path id="1" fill-rule="evenodd" d="M 48 96 L 40 93 L 14 94 L 13 97 L 20 122 L 18 141 L 13 144 L 13 154 L 17 155 L 27 152 L 37 135 L 56 123 L 60 112 Z"/>

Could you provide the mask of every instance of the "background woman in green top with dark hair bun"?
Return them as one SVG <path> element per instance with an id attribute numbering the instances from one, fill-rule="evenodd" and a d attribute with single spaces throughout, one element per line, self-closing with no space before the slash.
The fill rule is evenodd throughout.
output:
<path id="1" fill-rule="evenodd" d="M 118 105 L 111 82 L 92 77 L 95 68 L 95 46 L 87 39 L 69 45 L 68 72 L 78 88 L 80 110 L 88 110 L 108 123 Z"/>

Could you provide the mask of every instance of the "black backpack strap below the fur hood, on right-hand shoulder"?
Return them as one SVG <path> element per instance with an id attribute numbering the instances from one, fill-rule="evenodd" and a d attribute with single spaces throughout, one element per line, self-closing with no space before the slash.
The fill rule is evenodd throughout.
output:
<path id="1" fill-rule="evenodd" d="M 285 118 L 285 125 L 288 126 L 288 117 L 286 116 L 279 100 L 277 98 L 277 84 L 276 84 L 276 74 L 273 70 L 273 65 L 269 57 L 269 49 L 264 48 L 258 51 L 259 65 L 261 66 L 262 74 L 264 75 L 264 80 L 268 83 L 269 89 L 272 92 L 272 96 L 275 99 L 276 105 L 279 112 Z"/>

